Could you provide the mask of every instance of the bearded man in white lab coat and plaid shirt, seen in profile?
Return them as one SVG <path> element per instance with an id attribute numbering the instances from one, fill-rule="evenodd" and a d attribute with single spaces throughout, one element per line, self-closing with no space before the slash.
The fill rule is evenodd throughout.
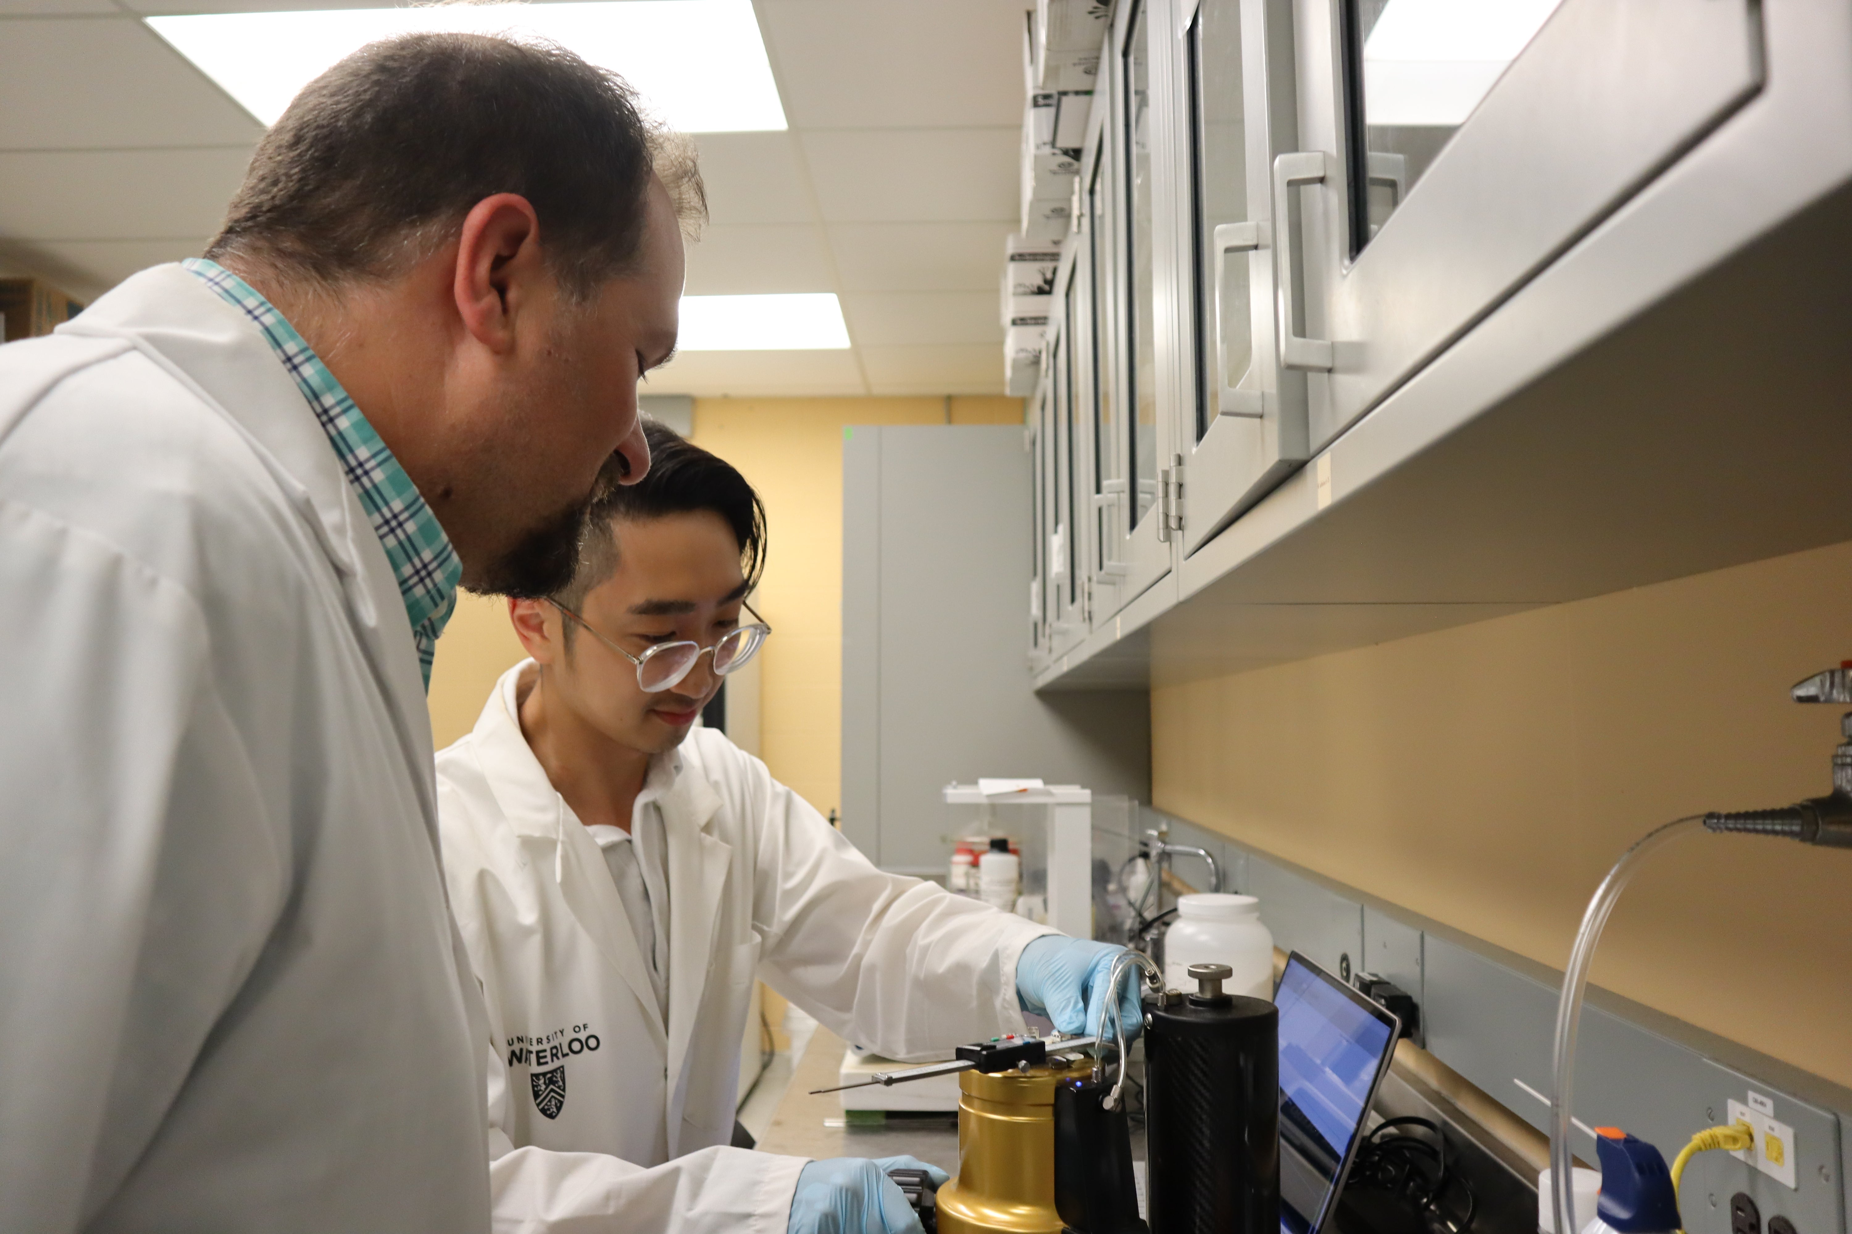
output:
<path id="1" fill-rule="evenodd" d="M 424 673 L 648 466 L 667 148 L 563 52 L 374 44 L 211 261 L 0 350 L 0 1228 L 487 1228 Z"/>

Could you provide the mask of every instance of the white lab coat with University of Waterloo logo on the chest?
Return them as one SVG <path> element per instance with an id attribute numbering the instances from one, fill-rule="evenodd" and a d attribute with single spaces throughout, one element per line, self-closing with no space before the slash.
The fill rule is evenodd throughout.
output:
<path id="1" fill-rule="evenodd" d="M 696 727 L 665 755 L 665 1032 L 604 855 L 520 734 L 524 672 L 437 755 L 450 899 L 493 1030 L 494 1227 L 783 1234 L 804 1162 L 724 1147 L 754 979 L 883 1055 L 945 1056 L 1022 1030 L 1017 956 L 1054 931 L 882 873 Z"/>

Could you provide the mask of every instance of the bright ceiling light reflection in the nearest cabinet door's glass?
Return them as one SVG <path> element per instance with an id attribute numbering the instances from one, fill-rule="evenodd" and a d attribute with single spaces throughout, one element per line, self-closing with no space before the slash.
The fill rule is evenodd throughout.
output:
<path id="1" fill-rule="evenodd" d="M 1561 0 L 1389 0 L 1363 41 L 1363 107 L 1376 126 L 1467 122 Z"/>

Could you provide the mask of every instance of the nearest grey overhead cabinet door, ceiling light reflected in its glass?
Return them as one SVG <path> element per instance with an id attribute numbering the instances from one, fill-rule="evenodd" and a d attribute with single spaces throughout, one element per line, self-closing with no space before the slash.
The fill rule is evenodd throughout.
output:
<path id="1" fill-rule="evenodd" d="M 1756 0 L 1295 7 L 1300 150 L 1270 191 L 1313 451 L 1763 83 Z"/>

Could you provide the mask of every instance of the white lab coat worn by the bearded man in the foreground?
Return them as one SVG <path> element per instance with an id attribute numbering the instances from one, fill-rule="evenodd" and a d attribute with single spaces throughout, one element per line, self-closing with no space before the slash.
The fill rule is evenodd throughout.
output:
<path id="1" fill-rule="evenodd" d="M 0 348 L 0 1228 L 485 1228 L 406 609 L 180 266 Z"/>

